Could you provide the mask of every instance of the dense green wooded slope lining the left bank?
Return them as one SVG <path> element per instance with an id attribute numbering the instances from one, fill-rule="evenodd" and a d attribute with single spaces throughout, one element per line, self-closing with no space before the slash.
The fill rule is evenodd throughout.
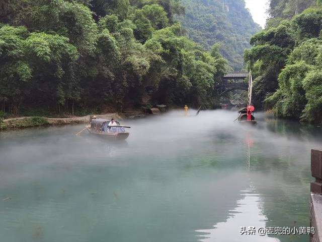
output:
<path id="1" fill-rule="evenodd" d="M 190 41 L 180 0 L 11 0 L 0 11 L 1 110 L 212 107 L 226 62 Z"/>

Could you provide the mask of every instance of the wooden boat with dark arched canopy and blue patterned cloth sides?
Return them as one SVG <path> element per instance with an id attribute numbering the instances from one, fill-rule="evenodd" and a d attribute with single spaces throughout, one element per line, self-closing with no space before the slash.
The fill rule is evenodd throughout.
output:
<path id="1" fill-rule="evenodd" d="M 111 120 L 103 118 L 92 119 L 91 126 L 87 130 L 93 135 L 108 139 L 125 140 L 129 137 L 130 134 L 125 132 L 124 126 L 108 126 L 110 122 Z"/>

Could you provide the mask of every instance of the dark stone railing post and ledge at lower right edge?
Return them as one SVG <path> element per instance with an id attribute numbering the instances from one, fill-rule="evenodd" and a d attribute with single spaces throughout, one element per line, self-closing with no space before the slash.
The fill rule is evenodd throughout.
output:
<path id="1" fill-rule="evenodd" d="M 310 234 L 311 242 L 322 242 L 322 150 L 311 150 L 310 226 L 315 233 Z"/>

